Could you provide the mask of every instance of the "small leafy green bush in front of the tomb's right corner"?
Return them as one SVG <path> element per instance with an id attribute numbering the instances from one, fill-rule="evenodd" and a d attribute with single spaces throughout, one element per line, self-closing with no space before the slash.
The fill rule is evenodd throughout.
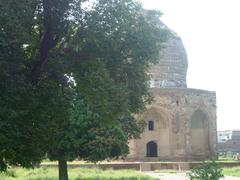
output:
<path id="1" fill-rule="evenodd" d="M 214 161 L 203 162 L 200 167 L 191 169 L 187 176 L 190 180 L 219 180 L 224 177 L 222 169 Z"/>

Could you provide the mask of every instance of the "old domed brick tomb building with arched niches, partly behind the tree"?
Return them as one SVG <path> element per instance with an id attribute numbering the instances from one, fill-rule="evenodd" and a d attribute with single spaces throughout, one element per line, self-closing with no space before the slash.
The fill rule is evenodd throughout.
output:
<path id="1" fill-rule="evenodd" d="M 154 102 L 139 115 L 146 121 L 145 131 L 129 141 L 127 160 L 216 158 L 216 93 L 187 88 L 187 54 L 177 35 L 160 54 L 149 71 Z"/>

